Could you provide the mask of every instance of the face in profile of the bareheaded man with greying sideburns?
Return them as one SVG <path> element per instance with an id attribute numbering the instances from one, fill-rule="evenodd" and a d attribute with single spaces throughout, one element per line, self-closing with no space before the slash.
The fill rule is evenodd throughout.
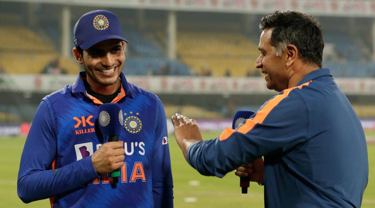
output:
<path id="1" fill-rule="evenodd" d="M 280 57 L 276 56 L 276 47 L 271 44 L 271 36 L 272 28 L 262 32 L 258 45 L 260 56 L 255 62 L 255 67 L 266 75 L 264 79 L 266 79 L 268 89 L 281 92 L 288 88 L 289 82 L 285 64 L 285 52 Z"/>

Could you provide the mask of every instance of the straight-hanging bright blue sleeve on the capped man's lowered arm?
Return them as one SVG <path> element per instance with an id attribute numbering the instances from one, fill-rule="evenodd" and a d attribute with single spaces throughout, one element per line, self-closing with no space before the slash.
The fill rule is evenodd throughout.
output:
<path id="1" fill-rule="evenodd" d="M 166 116 L 162 102 L 157 98 L 156 129 L 152 157 L 152 192 L 155 208 L 173 207 L 173 180 L 169 156 Z"/>

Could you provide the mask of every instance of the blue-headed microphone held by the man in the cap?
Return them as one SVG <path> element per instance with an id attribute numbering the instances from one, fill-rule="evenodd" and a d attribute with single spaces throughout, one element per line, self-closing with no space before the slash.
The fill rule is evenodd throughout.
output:
<path id="1" fill-rule="evenodd" d="M 120 105 L 117 103 L 106 103 L 99 107 L 99 128 L 108 142 L 118 141 L 118 135 L 123 129 L 124 119 Z M 118 183 L 120 168 L 111 173 L 113 183 Z"/>

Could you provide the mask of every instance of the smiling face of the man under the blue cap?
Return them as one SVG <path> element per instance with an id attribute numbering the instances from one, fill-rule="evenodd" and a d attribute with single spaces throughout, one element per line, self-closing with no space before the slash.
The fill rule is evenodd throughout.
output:
<path id="1" fill-rule="evenodd" d="M 118 82 L 125 61 L 124 42 L 104 40 L 82 53 L 87 82 L 108 86 Z"/>

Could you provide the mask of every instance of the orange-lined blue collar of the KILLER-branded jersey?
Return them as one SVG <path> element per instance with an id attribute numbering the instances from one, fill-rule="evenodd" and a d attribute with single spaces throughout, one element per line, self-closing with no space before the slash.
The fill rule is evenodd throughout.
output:
<path id="1" fill-rule="evenodd" d="M 73 93 L 82 92 L 86 97 L 90 98 L 94 103 L 103 104 L 97 98 L 93 97 L 92 95 L 87 94 L 85 85 L 83 83 L 83 80 L 86 79 L 86 77 L 87 77 L 86 71 L 81 71 L 80 73 L 78 73 L 78 77 L 72 85 L 72 92 Z M 121 80 L 121 92 L 117 95 L 117 97 L 114 98 L 114 100 L 111 103 L 117 103 L 119 100 L 121 100 L 124 97 L 133 98 L 132 88 L 129 85 L 129 83 L 126 81 L 126 78 L 122 72 L 120 74 L 119 79 Z"/>

